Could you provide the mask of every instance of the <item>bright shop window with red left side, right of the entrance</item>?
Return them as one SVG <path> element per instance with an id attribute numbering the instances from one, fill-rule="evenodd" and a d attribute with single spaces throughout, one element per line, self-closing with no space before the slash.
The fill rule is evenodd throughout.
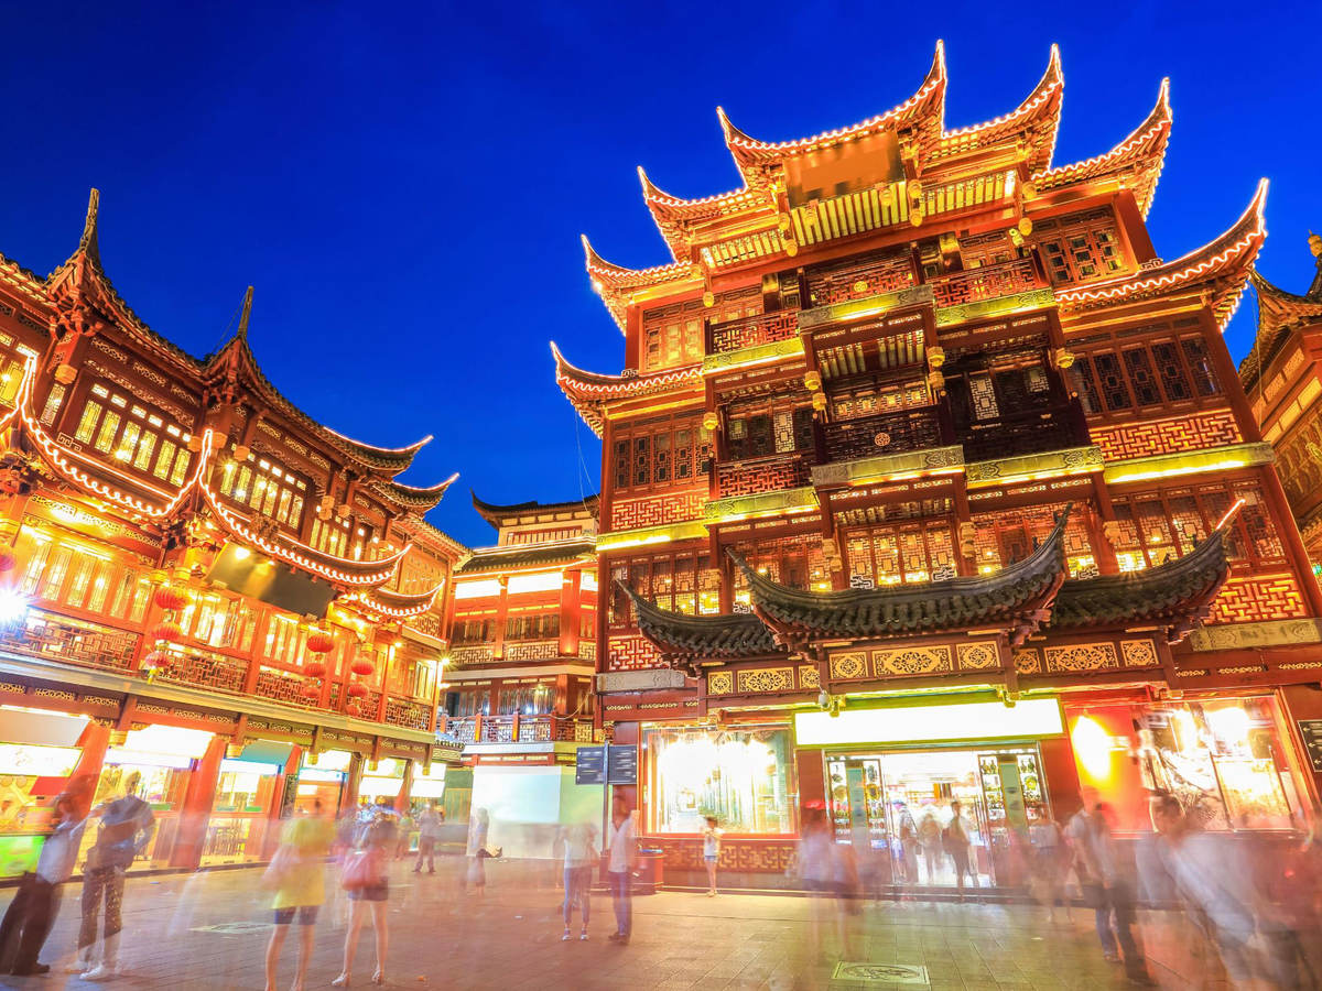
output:
<path id="1" fill-rule="evenodd" d="M 1292 830 L 1305 823 L 1280 707 L 1270 696 L 1067 707 L 1084 786 L 1122 830 L 1150 830 L 1146 795 L 1175 795 L 1204 830 Z"/>

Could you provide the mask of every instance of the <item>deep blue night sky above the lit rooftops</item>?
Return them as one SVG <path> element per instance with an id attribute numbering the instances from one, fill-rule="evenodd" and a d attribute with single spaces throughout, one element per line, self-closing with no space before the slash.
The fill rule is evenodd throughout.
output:
<path id="1" fill-rule="evenodd" d="M 152 328 L 204 354 L 255 284 L 267 375 L 352 436 L 435 433 L 401 481 L 460 472 L 430 519 L 471 544 L 493 534 L 468 486 L 595 490 L 600 447 L 547 349 L 623 363 L 578 235 L 669 260 L 635 166 L 678 196 L 736 186 L 717 104 L 769 140 L 850 124 L 908 98 L 944 37 L 960 127 L 1013 110 L 1055 41 L 1058 164 L 1108 151 L 1171 77 L 1165 258 L 1228 227 L 1260 176 L 1269 279 L 1302 292 L 1322 230 L 1317 3 L 7 4 L 3 22 L 0 254 L 50 271 L 98 186 L 106 270 Z M 1249 297 L 1236 359 L 1253 317 Z"/>

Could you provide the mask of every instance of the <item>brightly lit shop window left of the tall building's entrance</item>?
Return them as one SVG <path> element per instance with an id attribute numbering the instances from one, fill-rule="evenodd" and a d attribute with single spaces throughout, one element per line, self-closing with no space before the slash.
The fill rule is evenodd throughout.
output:
<path id="1" fill-rule="evenodd" d="M 796 831 L 789 729 L 654 728 L 644 745 L 649 832 L 701 832 L 707 815 L 726 832 Z"/>

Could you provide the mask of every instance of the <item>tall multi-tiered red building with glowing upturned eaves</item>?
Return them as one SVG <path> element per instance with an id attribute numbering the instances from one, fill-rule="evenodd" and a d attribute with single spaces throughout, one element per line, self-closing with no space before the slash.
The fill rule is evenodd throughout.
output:
<path id="1" fill-rule="evenodd" d="M 625 366 L 554 353 L 603 439 L 599 707 L 668 876 L 706 815 L 752 884 L 822 811 L 949 884 L 896 839 L 960 799 L 994 883 L 1007 831 L 1080 785 L 1126 830 L 1153 788 L 1214 828 L 1317 795 L 1293 719 L 1322 596 L 1222 341 L 1266 185 L 1166 262 L 1167 85 L 1056 164 L 1063 85 L 1052 49 L 1022 104 L 951 128 L 937 46 L 859 124 L 765 141 L 719 112 L 738 190 L 640 172 L 669 262 L 584 240 Z"/>

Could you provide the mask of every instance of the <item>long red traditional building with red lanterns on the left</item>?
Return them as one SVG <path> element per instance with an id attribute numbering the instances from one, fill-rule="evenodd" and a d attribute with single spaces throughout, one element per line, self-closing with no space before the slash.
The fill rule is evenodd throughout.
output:
<path id="1" fill-rule="evenodd" d="M 136 867 L 256 860 L 279 817 L 403 803 L 457 758 L 435 720 L 463 547 L 423 522 L 449 481 L 398 482 L 426 441 L 282 395 L 250 304 L 205 358 L 153 332 L 95 192 L 49 276 L 0 258 L 0 839 L 71 780 L 136 776 L 160 823 Z"/>

